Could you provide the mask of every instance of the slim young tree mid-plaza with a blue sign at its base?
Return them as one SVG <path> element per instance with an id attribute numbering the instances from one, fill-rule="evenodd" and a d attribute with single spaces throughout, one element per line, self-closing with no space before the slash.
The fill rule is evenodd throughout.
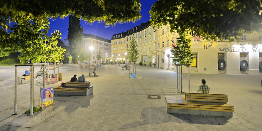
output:
<path id="1" fill-rule="evenodd" d="M 138 59 L 138 45 L 136 45 L 135 35 L 132 35 L 132 39 L 130 40 L 130 46 L 126 49 L 127 58 L 129 61 L 136 61 Z M 132 62 L 133 65 L 134 62 Z M 136 72 L 136 71 L 135 71 Z M 134 73 L 134 66 L 133 66 Z"/>

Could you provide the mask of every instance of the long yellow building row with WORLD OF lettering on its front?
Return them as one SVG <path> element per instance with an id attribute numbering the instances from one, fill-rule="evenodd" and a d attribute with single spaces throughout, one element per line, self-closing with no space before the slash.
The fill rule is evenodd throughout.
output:
<path id="1" fill-rule="evenodd" d="M 176 71 L 176 66 L 170 58 L 171 48 L 176 46 L 176 38 L 179 35 L 176 32 L 170 32 L 169 26 L 161 26 L 153 29 L 149 23 L 142 23 L 127 32 L 122 32 L 122 36 L 116 38 L 114 34 L 111 43 L 120 41 L 123 37 L 126 39 L 125 50 L 129 47 L 131 35 L 135 34 L 135 40 L 138 45 L 137 64 L 143 59 L 143 64 Z M 124 36 L 125 35 L 125 36 Z M 115 36 L 115 37 L 114 37 Z M 243 34 L 240 40 L 228 41 L 206 41 L 198 36 L 189 36 L 191 38 L 191 49 L 194 54 L 194 62 L 190 66 L 191 73 L 206 74 L 252 74 L 262 73 L 262 35 L 261 33 Z M 112 44 L 113 45 L 113 44 Z M 123 45 L 121 45 L 123 46 Z M 119 48 L 118 48 L 119 49 Z M 112 54 L 116 55 L 116 50 Z M 120 59 L 124 59 L 121 55 Z M 183 70 L 188 73 L 188 70 Z"/>

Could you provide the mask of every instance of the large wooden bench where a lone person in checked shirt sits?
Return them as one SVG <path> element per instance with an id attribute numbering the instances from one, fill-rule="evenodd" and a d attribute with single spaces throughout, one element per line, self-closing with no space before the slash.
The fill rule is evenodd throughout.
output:
<path id="1" fill-rule="evenodd" d="M 196 93 L 192 93 L 196 94 Z M 205 116 L 223 116 L 223 117 L 233 117 L 234 107 L 227 102 L 204 102 L 207 98 L 211 96 L 221 95 L 221 94 L 200 94 L 197 97 L 207 97 L 203 99 L 195 99 L 189 101 L 189 96 L 186 97 L 171 97 L 166 96 L 166 110 L 167 113 L 175 114 L 188 114 L 188 115 L 205 115 Z M 202 95 L 202 96 L 201 96 Z M 207 96 L 211 95 L 211 96 Z M 226 95 L 225 95 L 226 96 Z M 225 97 L 223 97 L 225 98 Z M 210 99 L 210 98 L 209 98 Z M 212 99 L 213 100 L 213 99 Z"/>

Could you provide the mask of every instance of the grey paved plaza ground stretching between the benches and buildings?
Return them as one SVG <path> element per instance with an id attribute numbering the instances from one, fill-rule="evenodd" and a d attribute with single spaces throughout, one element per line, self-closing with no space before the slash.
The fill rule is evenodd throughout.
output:
<path id="1" fill-rule="evenodd" d="M 93 95 L 55 95 L 54 104 L 35 113 L 33 117 L 23 114 L 30 105 L 29 83 L 18 87 L 18 115 L 12 115 L 14 87 L 0 87 L 0 130 L 246 131 L 262 128 L 261 76 L 191 74 L 190 92 L 196 92 L 201 79 L 206 79 L 206 84 L 211 88 L 210 93 L 228 95 L 234 113 L 233 118 L 227 118 L 168 114 L 164 97 L 179 95 L 176 94 L 176 72 L 136 66 L 136 74 L 142 78 L 129 78 L 128 70 L 121 68 L 103 65 L 97 67 L 98 77 L 89 77 L 89 68 L 61 66 L 63 81 L 69 81 L 74 74 L 77 77 L 85 74 L 86 81 L 94 85 Z M 46 87 L 58 84 L 60 81 L 47 84 Z M 40 83 L 35 83 L 35 96 L 38 96 L 40 87 Z M 183 92 L 188 92 L 187 74 L 183 74 Z M 161 99 L 148 99 L 147 95 L 160 95 Z"/>

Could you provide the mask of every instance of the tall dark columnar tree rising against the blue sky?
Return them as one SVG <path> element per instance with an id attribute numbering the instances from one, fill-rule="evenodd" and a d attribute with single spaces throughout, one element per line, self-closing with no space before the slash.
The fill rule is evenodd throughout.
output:
<path id="1" fill-rule="evenodd" d="M 72 55 L 74 60 L 77 60 L 79 56 L 79 51 L 81 48 L 82 38 L 83 38 L 83 27 L 80 24 L 80 18 L 75 15 L 69 16 L 68 24 L 68 48 L 70 49 L 70 55 Z"/>

